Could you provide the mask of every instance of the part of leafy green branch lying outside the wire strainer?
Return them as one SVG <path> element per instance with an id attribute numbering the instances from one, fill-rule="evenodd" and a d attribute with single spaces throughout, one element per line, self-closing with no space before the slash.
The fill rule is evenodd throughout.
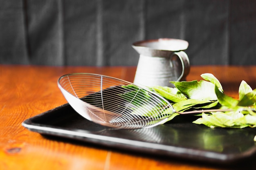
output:
<path id="1" fill-rule="evenodd" d="M 239 86 L 239 99 L 236 100 L 225 95 L 219 80 L 212 74 L 205 73 L 201 77 L 204 80 L 199 82 L 171 82 L 175 88 L 154 86 L 151 89 L 168 99 L 178 112 L 209 109 L 193 121 L 195 124 L 204 124 L 211 128 L 256 127 L 256 89 L 252 90 L 242 81 Z M 229 111 L 212 112 L 212 109 Z"/>

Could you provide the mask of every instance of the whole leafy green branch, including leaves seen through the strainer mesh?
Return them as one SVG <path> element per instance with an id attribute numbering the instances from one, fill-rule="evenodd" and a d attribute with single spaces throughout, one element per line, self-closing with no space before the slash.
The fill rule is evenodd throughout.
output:
<path id="1" fill-rule="evenodd" d="M 256 127 L 256 89 L 252 90 L 242 81 L 239 86 L 239 99 L 234 99 L 224 93 L 222 85 L 214 75 L 205 73 L 201 77 L 204 80 L 170 82 L 174 84 L 174 88 L 150 87 L 152 91 L 167 99 L 173 108 L 145 103 L 142 99 L 150 98 L 148 91 L 132 84 L 123 86 L 130 92 L 121 96 L 135 106 L 131 113 L 134 115 L 164 117 L 168 118 L 166 121 L 171 121 L 177 115 L 196 111 L 200 118 L 193 121 L 195 124 L 204 124 L 211 128 Z"/>

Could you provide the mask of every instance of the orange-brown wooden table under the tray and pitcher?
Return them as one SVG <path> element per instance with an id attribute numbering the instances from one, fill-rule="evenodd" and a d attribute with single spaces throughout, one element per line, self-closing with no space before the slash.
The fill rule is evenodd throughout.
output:
<path id="1" fill-rule="evenodd" d="M 137 155 L 91 144 L 51 140 L 21 125 L 25 119 L 66 103 L 57 87 L 57 79 L 61 75 L 99 73 L 132 82 L 135 71 L 136 67 L 0 65 L 0 169 L 229 169 L 175 158 Z M 192 66 L 187 80 L 201 79 L 202 73 L 213 73 L 220 80 L 225 93 L 235 98 L 238 98 L 238 87 L 242 80 L 256 88 L 256 66 Z M 246 166 L 256 167 L 253 162 L 247 162 Z"/>

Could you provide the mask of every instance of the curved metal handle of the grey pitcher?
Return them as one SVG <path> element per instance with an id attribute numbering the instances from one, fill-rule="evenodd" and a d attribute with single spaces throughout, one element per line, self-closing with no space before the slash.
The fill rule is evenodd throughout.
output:
<path id="1" fill-rule="evenodd" d="M 173 55 L 177 55 L 182 64 L 182 73 L 181 73 L 180 77 L 177 79 L 177 81 L 180 81 L 180 80 L 184 81 L 190 71 L 189 57 L 184 51 L 177 51 L 177 52 L 172 53 L 171 58 L 170 58 L 171 60 L 173 58 Z"/>

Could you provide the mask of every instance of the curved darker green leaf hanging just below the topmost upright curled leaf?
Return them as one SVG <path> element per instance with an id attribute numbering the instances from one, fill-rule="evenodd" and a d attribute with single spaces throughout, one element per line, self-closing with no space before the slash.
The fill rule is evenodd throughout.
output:
<path id="1" fill-rule="evenodd" d="M 218 97 L 219 103 L 222 106 L 227 106 L 228 108 L 231 108 L 231 109 L 237 108 L 237 104 L 239 101 L 222 93 L 217 86 L 215 87 L 215 93 Z"/>

